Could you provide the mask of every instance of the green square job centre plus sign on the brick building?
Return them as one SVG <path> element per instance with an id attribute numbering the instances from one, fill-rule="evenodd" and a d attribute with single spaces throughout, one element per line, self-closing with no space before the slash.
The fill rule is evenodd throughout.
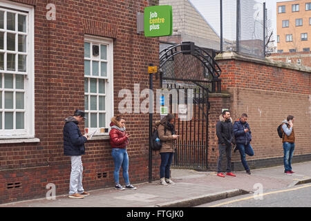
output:
<path id="1" fill-rule="evenodd" d="M 173 14 L 171 6 L 151 6 L 144 8 L 144 36 L 159 37 L 171 35 Z"/>

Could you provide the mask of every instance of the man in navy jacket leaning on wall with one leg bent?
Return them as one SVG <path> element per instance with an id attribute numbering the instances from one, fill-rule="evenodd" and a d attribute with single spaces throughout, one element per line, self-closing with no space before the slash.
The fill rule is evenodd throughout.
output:
<path id="1" fill-rule="evenodd" d="M 244 166 L 246 173 L 250 173 L 249 166 L 247 165 L 245 154 L 249 156 L 254 155 L 254 150 L 250 145 L 252 141 L 252 132 L 247 124 L 247 114 L 243 113 L 238 121 L 234 122 L 234 136 L 236 137 L 236 148 L 240 151 L 241 162 Z"/>

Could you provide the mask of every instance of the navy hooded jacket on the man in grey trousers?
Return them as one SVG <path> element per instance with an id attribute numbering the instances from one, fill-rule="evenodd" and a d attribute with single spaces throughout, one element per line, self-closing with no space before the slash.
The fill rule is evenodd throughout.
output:
<path id="1" fill-rule="evenodd" d="M 64 125 L 64 155 L 79 156 L 85 153 L 84 143 L 87 138 L 84 137 L 77 126 L 79 122 L 75 117 L 67 117 Z"/>

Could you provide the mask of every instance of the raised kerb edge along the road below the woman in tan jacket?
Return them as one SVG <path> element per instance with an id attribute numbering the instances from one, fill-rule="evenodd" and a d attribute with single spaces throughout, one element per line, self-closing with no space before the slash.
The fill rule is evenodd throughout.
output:
<path id="1" fill-rule="evenodd" d="M 243 189 L 232 189 L 229 191 L 200 195 L 195 198 L 176 200 L 176 201 L 172 201 L 168 203 L 165 202 L 161 204 L 156 204 L 154 206 L 155 207 L 191 207 L 191 206 L 198 206 L 200 204 L 205 204 L 208 202 L 213 202 L 216 200 L 223 200 L 225 198 L 232 198 L 234 196 L 243 195 L 247 193 L 249 193 L 249 191 L 245 191 Z"/>

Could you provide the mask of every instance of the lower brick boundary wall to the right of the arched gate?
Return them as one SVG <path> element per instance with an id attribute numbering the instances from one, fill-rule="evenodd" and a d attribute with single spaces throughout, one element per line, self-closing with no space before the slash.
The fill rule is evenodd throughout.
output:
<path id="1" fill-rule="evenodd" d="M 224 55 L 217 61 L 223 70 L 222 92 L 231 95 L 229 109 L 232 118 L 238 119 L 242 113 L 248 115 L 255 155 L 247 160 L 283 156 L 276 128 L 288 115 L 295 117 L 294 155 L 310 155 L 310 68 L 287 68 L 283 64 L 234 54 Z M 226 103 L 221 105 L 227 106 Z M 240 161 L 238 152 L 232 155 L 232 160 Z"/>

